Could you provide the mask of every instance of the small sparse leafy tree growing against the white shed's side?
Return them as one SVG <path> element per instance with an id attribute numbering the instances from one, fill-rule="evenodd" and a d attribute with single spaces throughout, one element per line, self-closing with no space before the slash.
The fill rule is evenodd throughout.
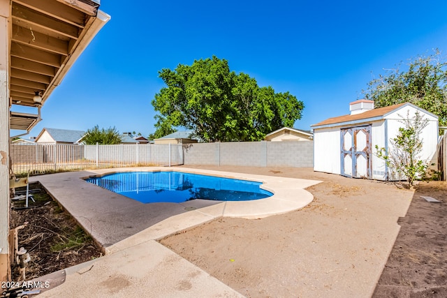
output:
<path id="1" fill-rule="evenodd" d="M 428 120 L 423 119 L 419 112 L 409 119 L 407 112 L 406 118 L 400 122 L 404 127 L 400 127 L 397 136 L 390 139 L 390 149 L 386 151 L 385 148 L 376 145 L 376 155 L 386 162 L 393 174 L 406 177 L 409 188 L 413 188 L 416 179 L 425 177 L 428 167 L 427 161 L 420 160 L 423 148 L 420 133 L 428 125 Z"/>

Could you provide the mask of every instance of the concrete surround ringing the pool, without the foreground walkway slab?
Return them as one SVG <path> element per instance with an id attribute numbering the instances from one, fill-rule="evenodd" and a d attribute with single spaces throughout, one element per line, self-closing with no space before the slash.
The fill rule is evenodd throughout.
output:
<path id="1" fill-rule="evenodd" d="M 176 171 L 259 181 L 263 183 L 261 188 L 272 192 L 273 195 L 252 201 L 191 200 L 181 203 L 143 204 L 84 180 L 87 177 L 114 172 L 154 171 Z M 91 234 L 91 237 L 103 246 L 105 253 L 129 247 L 128 244 L 120 243 L 126 239 L 129 244 L 136 244 L 135 239 L 140 238 L 138 236 L 140 233 L 142 233 L 140 241 L 161 239 L 179 230 L 222 216 L 263 218 L 301 209 L 314 198 L 304 188 L 321 182 L 187 167 L 120 167 L 46 174 L 30 177 L 30 181 L 40 181 L 54 200 L 57 200 Z M 149 216 L 156 215 L 154 221 L 148 221 L 147 218 L 138 221 L 138 216 L 142 217 L 145 212 Z"/>

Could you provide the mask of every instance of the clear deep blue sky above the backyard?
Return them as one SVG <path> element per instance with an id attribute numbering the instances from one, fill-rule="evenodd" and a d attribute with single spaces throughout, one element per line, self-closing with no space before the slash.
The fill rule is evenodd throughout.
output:
<path id="1" fill-rule="evenodd" d="M 295 128 L 349 114 L 385 68 L 439 48 L 447 1 L 102 0 L 111 16 L 46 101 L 44 127 L 154 132 L 158 72 L 216 55 L 305 103 Z M 17 110 L 17 109 L 16 109 Z M 27 112 L 29 112 L 27 110 Z M 14 135 L 14 133 L 12 133 Z"/>

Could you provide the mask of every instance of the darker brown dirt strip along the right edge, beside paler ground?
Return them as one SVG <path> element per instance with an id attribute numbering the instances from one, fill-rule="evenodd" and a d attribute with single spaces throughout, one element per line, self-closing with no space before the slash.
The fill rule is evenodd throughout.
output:
<path id="1" fill-rule="evenodd" d="M 447 297 L 446 204 L 445 182 L 418 185 L 374 297 Z"/>

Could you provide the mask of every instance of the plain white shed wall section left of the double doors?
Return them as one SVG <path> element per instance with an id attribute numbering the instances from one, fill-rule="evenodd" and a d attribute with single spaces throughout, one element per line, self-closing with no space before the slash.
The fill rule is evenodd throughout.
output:
<path id="1" fill-rule="evenodd" d="M 314 171 L 341 174 L 338 127 L 314 130 Z"/>

